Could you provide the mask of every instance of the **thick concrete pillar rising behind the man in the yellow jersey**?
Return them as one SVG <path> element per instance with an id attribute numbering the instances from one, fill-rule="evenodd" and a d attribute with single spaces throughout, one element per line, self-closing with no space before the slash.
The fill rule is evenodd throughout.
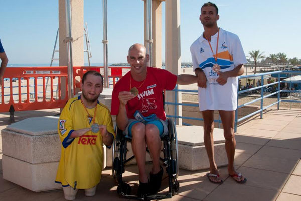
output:
<path id="1" fill-rule="evenodd" d="M 71 26 L 72 26 L 72 62 L 73 66 L 84 66 L 84 0 L 71 0 Z M 66 38 L 66 9 L 65 0 L 59 0 L 59 65 L 67 66 Z M 67 80 L 62 80 L 62 88 Z M 61 96 L 68 95 L 62 91 Z"/>

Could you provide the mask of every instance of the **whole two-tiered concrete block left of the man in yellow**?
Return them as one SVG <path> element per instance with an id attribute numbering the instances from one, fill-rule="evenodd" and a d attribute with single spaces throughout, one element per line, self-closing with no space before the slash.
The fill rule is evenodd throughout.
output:
<path id="1" fill-rule="evenodd" d="M 61 188 L 54 182 L 61 156 L 57 123 L 58 117 L 35 117 L 1 131 L 4 179 L 32 191 Z"/>

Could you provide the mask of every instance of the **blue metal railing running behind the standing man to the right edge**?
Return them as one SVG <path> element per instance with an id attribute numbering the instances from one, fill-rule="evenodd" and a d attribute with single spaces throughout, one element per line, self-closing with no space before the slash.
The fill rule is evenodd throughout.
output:
<path id="1" fill-rule="evenodd" d="M 268 84 L 264 84 L 264 76 L 265 75 L 273 75 L 273 74 L 276 74 L 278 81 L 275 81 L 273 83 L 268 83 Z M 291 77 L 293 74 L 300 74 L 301 75 L 301 71 L 284 71 L 284 70 L 281 70 L 281 71 L 274 71 L 274 72 L 267 72 L 267 73 L 260 73 L 260 74 L 254 74 L 254 75 L 246 75 L 246 76 L 240 76 L 238 77 L 238 80 L 240 79 L 248 79 L 248 78 L 253 78 L 253 77 L 260 77 L 259 79 L 261 79 L 261 86 L 257 86 L 257 87 L 253 87 L 253 88 L 249 88 L 249 89 L 245 89 L 245 90 L 239 90 L 239 87 L 237 87 L 237 109 L 235 111 L 235 123 L 234 123 L 234 131 L 236 132 L 237 131 L 237 124 L 253 115 L 256 115 L 258 113 L 260 113 L 260 118 L 262 119 L 262 116 L 263 116 L 263 111 L 275 104 L 277 104 L 277 108 L 279 109 L 280 108 L 280 102 L 290 102 L 290 103 L 301 103 L 300 100 L 281 100 L 280 99 L 280 93 L 290 93 L 290 97 L 291 97 L 291 93 L 300 93 L 301 94 L 301 90 L 300 91 L 294 91 L 294 90 L 291 90 L 292 88 L 292 84 L 300 84 L 301 81 L 280 81 L 280 75 L 281 74 L 287 74 L 288 76 L 287 77 Z M 238 81 L 239 82 L 239 81 Z M 280 83 L 289 83 L 289 89 L 290 90 L 280 90 Z M 273 86 L 277 84 L 277 90 L 276 91 L 271 91 L 270 94 L 267 94 L 267 95 L 264 95 L 267 89 L 267 87 L 269 86 Z M 249 92 L 252 92 L 252 91 L 258 91 L 260 90 L 260 97 L 258 97 L 257 99 L 254 99 L 254 100 L 251 100 L 250 102 L 247 102 L 247 103 L 244 103 L 244 104 L 241 104 L 241 105 L 238 105 L 238 96 L 240 94 L 243 94 L 243 93 L 249 93 Z M 194 117 L 185 117 L 185 116 L 178 116 L 177 115 L 177 106 L 193 106 L 193 107 L 198 107 L 199 105 L 198 104 L 187 104 L 187 103 L 178 103 L 177 102 L 177 97 L 178 97 L 178 92 L 189 92 L 189 93 L 197 93 L 198 90 L 180 90 L 178 89 L 178 85 L 176 85 L 175 89 L 171 90 L 173 92 L 175 92 L 175 102 L 165 102 L 166 105 L 174 105 L 175 106 L 175 110 L 174 110 L 174 115 L 167 115 L 167 117 L 172 117 L 174 118 L 174 121 L 176 123 L 177 119 L 191 119 L 191 120 L 200 120 L 200 121 L 204 121 L 203 118 L 194 118 Z M 268 105 L 268 106 L 263 106 L 263 99 L 264 98 L 267 98 L 267 97 L 270 97 L 270 96 L 274 96 L 274 95 L 277 95 L 277 101 Z M 247 106 L 247 105 L 250 105 L 252 103 L 255 103 L 257 101 L 260 100 L 260 109 L 253 112 L 253 113 L 250 113 L 248 115 L 245 115 L 241 118 L 238 119 L 238 109 L 239 108 L 242 108 L 244 106 Z M 219 116 L 219 119 L 218 120 L 214 120 L 214 122 L 217 122 L 218 123 L 218 128 L 220 127 L 220 123 L 221 123 L 221 120 L 220 120 L 220 116 Z M 191 125 L 191 124 L 188 124 L 188 123 L 183 123 L 184 125 Z"/>

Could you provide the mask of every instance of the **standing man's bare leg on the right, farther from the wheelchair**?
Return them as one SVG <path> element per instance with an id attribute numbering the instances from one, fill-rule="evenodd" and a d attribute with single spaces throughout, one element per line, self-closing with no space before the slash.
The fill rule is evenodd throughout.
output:
<path id="1" fill-rule="evenodd" d="M 236 140 L 234 135 L 234 121 L 235 121 L 235 111 L 224 111 L 219 110 L 221 116 L 223 128 L 224 128 L 224 137 L 226 140 L 225 148 L 228 157 L 228 173 L 230 175 L 238 174 L 234 168 L 234 155 L 236 148 Z M 242 176 L 243 180 L 244 177 Z"/>

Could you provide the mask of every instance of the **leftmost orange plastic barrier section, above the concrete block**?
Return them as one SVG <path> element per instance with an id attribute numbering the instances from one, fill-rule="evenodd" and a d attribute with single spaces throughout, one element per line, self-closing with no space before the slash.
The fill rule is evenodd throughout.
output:
<path id="1" fill-rule="evenodd" d="M 6 68 L 3 77 L 6 81 L 2 82 L 1 87 L 0 112 L 63 108 L 68 100 L 68 84 L 66 84 L 66 88 L 61 88 L 62 78 L 67 80 L 66 66 Z M 50 97 L 48 98 L 46 98 L 47 78 L 50 80 L 48 85 Z M 54 98 L 54 79 L 57 80 L 57 98 Z M 9 86 L 6 87 L 8 80 Z M 24 84 L 25 81 L 26 84 Z M 42 82 L 42 84 L 38 82 Z M 26 87 L 26 90 L 22 90 L 24 87 Z M 38 87 L 42 87 L 41 96 L 38 94 Z M 15 88 L 18 89 L 18 92 L 14 91 Z M 63 99 L 61 98 L 62 91 L 66 94 Z M 18 99 L 17 101 L 14 100 L 15 96 L 18 96 L 18 98 L 15 98 Z"/>

